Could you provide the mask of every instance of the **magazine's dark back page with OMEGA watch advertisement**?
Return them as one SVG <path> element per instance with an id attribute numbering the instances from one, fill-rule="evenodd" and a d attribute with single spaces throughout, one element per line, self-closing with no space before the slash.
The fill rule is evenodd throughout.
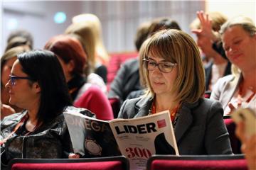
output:
<path id="1" fill-rule="evenodd" d="M 111 157 L 121 155 L 110 125 L 75 112 L 65 112 L 74 153 L 82 157 Z"/>

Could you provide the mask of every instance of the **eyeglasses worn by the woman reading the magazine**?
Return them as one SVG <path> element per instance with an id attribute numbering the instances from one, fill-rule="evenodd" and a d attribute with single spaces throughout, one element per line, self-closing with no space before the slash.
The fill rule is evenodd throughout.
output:
<path id="1" fill-rule="evenodd" d="M 143 61 L 144 67 L 149 71 L 153 71 L 157 66 L 161 72 L 168 73 L 168 72 L 171 72 L 174 69 L 174 67 L 177 66 L 177 63 L 172 63 L 172 62 L 156 63 L 154 61 L 146 60 L 146 59 L 143 59 L 142 61 Z"/>

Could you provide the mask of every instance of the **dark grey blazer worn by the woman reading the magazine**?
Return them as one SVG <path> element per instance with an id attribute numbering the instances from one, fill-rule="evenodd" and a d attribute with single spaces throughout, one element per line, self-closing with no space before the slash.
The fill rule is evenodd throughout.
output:
<path id="1" fill-rule="evenodd" d="M 148 115 L 151 103 L 149 97 L 124 101 L 118 118 Z M 174 133 L 179 154 L 232 154 L 218 101 L 201 98 L 195 103 L 183 103 Z"/>

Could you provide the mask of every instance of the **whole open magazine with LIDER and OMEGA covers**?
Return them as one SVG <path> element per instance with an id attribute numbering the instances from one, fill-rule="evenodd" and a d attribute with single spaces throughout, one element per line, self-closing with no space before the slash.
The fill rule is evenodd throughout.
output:
<path id="1" fill-rule="evenodd" d="M 124 155 L 130 169 L 146 169 L 152 154 L 178 155 L 169 111 L 110 121 L 72 111 L 64 116 L 74 152 L 82 157 Z"/>

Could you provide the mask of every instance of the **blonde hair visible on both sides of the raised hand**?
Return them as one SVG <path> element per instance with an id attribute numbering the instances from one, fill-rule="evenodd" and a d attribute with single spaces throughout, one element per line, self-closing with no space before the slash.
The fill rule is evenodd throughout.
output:
<path id="1" fill-rule="evenodd" d="M 227 21 L 227 17 L 223 15 L 223 13 L 214 11 L 209 13 L 209 18 L 211 19 L 212 23 L 212 29 L 214 31 L 219 31 L 220 27 Z M 198 18 L 194 19 L 193 22 L 190 25 L 191 29 L 200 29 L 201 28 L 201 22 Z"/>

